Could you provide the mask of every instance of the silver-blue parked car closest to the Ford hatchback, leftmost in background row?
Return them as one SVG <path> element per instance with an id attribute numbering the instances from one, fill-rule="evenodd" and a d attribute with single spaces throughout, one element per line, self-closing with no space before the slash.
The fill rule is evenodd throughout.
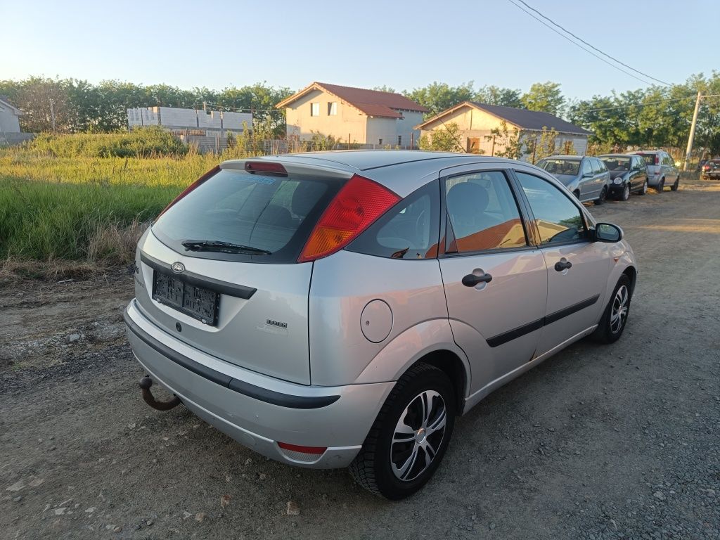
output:
<path id="1" fill-rule="evenodd" d="M 603 204 L 610 192 L 610 172 L 598 158 L 550 156 L 538 161 L 537 166 L 561 181 L 580 202 Z"/>

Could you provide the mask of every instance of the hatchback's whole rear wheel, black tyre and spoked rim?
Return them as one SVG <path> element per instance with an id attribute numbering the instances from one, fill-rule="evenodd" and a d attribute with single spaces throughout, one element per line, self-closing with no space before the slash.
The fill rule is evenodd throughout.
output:
<path id="1" fill-rule="evenodd" d="M 445 455 L 456 402 L 453 384 L 444 372 L 423 362 L 412 366 L 382 405 L 360 453 L 350 464 L 350 474 L 380 497 L 400 500 L 413 495 L 431 479 Z M 438 423 L 442 423 L 441 429 Z M 425 428 L 431 426 L 436 429 L 426 435 Z"/>

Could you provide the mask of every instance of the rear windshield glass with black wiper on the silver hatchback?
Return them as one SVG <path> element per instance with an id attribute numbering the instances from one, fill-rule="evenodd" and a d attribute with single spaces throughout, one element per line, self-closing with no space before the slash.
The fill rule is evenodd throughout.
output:
<path id="1" fill-rule="evenodd" d="M 187 256 L 293 263 L 343 183 L 222 169 L 158 217 L 153 234 Z"/>

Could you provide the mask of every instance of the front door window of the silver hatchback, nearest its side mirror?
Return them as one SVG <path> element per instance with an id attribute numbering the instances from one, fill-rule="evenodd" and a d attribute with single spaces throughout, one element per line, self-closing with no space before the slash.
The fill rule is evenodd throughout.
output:
<path id="1" fill-rule="evenodd" d="M 580 209 L 549 181 L 516 171 L 535 217 L 542 244 L 567 243 L 588 238 Z"/>

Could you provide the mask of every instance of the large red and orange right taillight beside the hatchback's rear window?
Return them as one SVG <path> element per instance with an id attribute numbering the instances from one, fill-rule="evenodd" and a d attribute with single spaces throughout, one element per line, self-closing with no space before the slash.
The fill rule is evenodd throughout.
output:
<path id="1" fill-rule="evenodd" d="M 390 189 L 356 174 L 325 209 L 297 262 L 315 261 L 341 250 L 399 200 Z"/>

